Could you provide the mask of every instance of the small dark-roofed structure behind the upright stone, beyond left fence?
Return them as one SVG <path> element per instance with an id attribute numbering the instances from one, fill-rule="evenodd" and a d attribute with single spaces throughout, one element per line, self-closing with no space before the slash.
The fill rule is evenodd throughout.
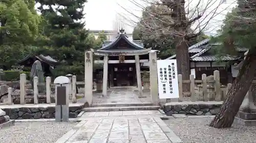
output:
<path id="1" fill-rule="evenodd" d="M 31 68 L 36 60 L 41 62 L 42 70 L 44 71 L 45 76 L 51 76 L 51 69 L 59 64 L 59 62 L 52 59 L 51 56 L 44 56 L 42 54 L 35 56 L 28 54 L 24 59 L 18 61 L 18 65 Z"/>

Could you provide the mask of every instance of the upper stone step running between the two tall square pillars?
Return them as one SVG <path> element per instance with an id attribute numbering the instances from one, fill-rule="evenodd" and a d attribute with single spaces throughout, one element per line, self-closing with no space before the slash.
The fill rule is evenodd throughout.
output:
<path id="1" fill-rule="evenodd" d="M 124 107 L 124 106 L 151 106 L 153 103 L 106 103 L 92 104 L 92 107 Z"/>

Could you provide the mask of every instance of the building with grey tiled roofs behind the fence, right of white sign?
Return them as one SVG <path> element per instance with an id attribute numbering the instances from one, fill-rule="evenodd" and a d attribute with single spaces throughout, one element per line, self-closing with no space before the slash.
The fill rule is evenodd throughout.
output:
<path id="1" fill-rule="evenodd" d="M 209 39 L 205 39 L 188 48 L 190 56 L 190 74 L 194 74 L 196 79 L 201 79 L 202 74 L 213 75 L 215 70 L 220 71 L 220 80 L 222 84 L 232 83 L 237 76 L 238 70 L 234 69 L 234 64 L 243 60 L 244 52 L 247 48 L 237 47 L 239 56 L 226 55 L 221 59 L 216 56 L 211 49 L 218 46 L 218 43 L 210 44 Z M 166 60 L 175 59 L 176 54 Z"/>

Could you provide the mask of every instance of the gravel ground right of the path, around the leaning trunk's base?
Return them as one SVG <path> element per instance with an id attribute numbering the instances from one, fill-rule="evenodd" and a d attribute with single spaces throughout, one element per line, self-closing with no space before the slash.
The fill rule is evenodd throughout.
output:
<path id="1" fill-rule="evenodd" d="M 184 143 L 256 142 L 256 127 L 216 129 L 207 126 L 212 118 L 185 118 L 164 121 Z"/>

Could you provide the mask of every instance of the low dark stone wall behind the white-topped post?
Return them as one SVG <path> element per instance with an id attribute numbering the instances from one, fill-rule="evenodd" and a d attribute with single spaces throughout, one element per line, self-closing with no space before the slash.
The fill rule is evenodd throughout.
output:
<path id="1" fill-rule="evenodd" d="M 83 106 L 70 106 L 69 118 L 77 118 Z M 55 118 L 55 107 L 20 107 L 20 108 L 2 108 L 10 119 L 52 119 Z"/>

